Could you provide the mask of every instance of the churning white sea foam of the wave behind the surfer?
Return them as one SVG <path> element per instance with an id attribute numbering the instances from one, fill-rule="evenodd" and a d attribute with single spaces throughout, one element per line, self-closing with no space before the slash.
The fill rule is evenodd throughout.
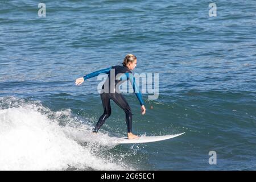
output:
<path id="1" fill-rule="evenodd" d="M 24 102 L 0 99 L 0 170 L 129 169 L 95 152 L 98 146 L 114 147 L 107 134 L 93 136 L 85 124 L 59 125 L 63 115 L 72 120 L 71 110 Z"/>

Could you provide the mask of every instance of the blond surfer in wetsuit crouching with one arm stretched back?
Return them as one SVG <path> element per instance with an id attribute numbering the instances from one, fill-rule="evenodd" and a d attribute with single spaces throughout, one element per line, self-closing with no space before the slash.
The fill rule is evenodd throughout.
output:
<path id="1" fill-rule="evenodd" d="M 98 122 L 93 130 L 94 133 L 97 133 L 100 127 L 104 124 L 106 119 L 111 115 L 111 106 L 110 100 L 113 100 L 115 104 L 117 104 L 123 111 L 125 111 L 126 117 L 126 125 L 127 125 L 127 137 L 128 139 L 139 138 L 137 135 L 131 133 L 131 123 L 132 123 L 132 114 L 131 108 L 122 94 L 119 92 L 118 86 L 122 84 L 122 82 L 129 79 L 131 85 L 133 85 L 134 92 L 141 104 L 141 113 L 146 113 L 146 108 L 144 106 L 144 102 L 142 100 L 141 92 L 139 92 L 138 86 L 135 82 L 135 77 L 131 70 L 133 70 L 137 65 L 137 57 L 129 54 L 125 56 L 123 59 L 123 65 L 116 65 L 110 68 L 101 69 L 99 71 L 90 73 L 85 75 L 84 77 L 80 77 L 76 79 L 76 85 L 82 84 L 84 80 L 100 75 L 100 73 L 108 74 L 108 78 L 104 82 L 102 86 L 101 92 L 101 101 L 104 108 L 104 113 L 98 119 Z M 119 78 L 118 78 L 119 77 Z M 115 80 L 117 78 L 117 80 Z M 113 80 L 114 79 L 114 80 Z M 114 83 L 114 84 L 113 84 Z"/>

